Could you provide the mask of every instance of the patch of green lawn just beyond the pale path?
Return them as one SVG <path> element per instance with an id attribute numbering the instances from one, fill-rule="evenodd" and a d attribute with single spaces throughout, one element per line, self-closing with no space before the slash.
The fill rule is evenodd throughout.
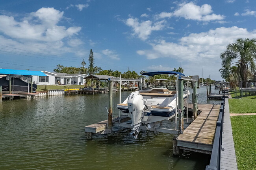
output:
<path id="1" fill-rule="evenodd" d="M 230 113 L 256 113 L 256 99 L 228 99 Z"/>

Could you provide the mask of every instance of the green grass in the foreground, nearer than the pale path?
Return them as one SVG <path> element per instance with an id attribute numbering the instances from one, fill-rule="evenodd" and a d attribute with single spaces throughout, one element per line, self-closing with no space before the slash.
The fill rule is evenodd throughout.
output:
<path id="1" fill-rule="evenodd" d="M 230 117 L 239 170 L 256 170 L 256 115 Z"/>

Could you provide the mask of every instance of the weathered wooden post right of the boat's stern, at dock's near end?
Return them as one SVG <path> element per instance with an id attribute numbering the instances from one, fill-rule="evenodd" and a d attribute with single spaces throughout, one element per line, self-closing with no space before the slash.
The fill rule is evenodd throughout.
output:
<path id="1" fill-rule="evenodd" d="M 182 79 L 178 80 L 179 135 L 184 131 L 183 82 L 184 80 Z"/>

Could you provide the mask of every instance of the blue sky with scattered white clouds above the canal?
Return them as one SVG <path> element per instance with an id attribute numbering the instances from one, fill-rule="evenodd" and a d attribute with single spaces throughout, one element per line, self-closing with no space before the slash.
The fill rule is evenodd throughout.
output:
<path id="1" fill-rule="evenodd" d="M 1 0 L 0 68 L 58 64 L 222 80 L 220 54 L 256 38 L 255 0 Z"/>

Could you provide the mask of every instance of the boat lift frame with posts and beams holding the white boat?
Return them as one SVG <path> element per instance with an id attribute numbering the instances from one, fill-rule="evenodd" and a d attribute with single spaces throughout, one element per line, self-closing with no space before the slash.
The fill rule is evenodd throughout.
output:
<path id="1" fill-rule="evenodd" d="M 130 120 L 129 117 L 121 117 L 120 116 L 120 111 L 119 111 L 119 117 L 112 117 L 113 114 L 113 81 L 119 80 L 120 82 L 122 81 L 121 75 L 120 79 L 116 78 L 109 78 L 108 83 L 109 83 L 109 106 L 108 106 L 108 120 L 98 122 L 95 124 L 91 124 L 89 126 L 85 126 L 85 132 L 87 133 L 87 139 L 91 139 L 92 133 L 94 134 L 106 134 L 111 133 L 111 128 L 112 126 L 119 126 L 119 127 L 125 127 L 125 128 L 131 128 L 130 124 L 124 123 L 125 121 Z M 193 82 L 193 117 L 192 119 L 188 119 L 187 116 L 187 122 L 188 120 L 193 121 L 197 117 L 197 79 L 191 78 L 191 77 L 186 77 L 182 75 L 177 74 L 177 82 L 176 82 L 176 89 L 178 95 L 178 101 L 176 100 L 176 114 L 175 114 L 175 128 L 174 129 L 167 129 L 167 128 L 158 128 L 155 127 L 158 122 L 154 122 L 150 124 L 150 126 L 141 126 L 141 130 L 149 130 L 149 131 L 154 131 L 156 132 L 163 132 L 163 133 L 172 133 L 172 134 L 182 134 L 184 131 L 184 102 L 183 102 L 183 88 L 184 88 L 184 81 L 187 81 L 187 87 L 188 87 L 188 81 Z M 140 88 L 141 84 L 143 82 L 143 79 L 141 78 L 141 83 L 140 83 Z M 121 90 L 120 90 L 120 96 L 119 96 L 119 102 L 121 103 Z M 177 110 L 177 105 L 180 106 L 179 110 Z M 187 97 L 187 115 L 188 115 L 188 97 Z M 178 123 L 178 130 L 177 130 L 177 123 Z M 106 130 L 108 129 L 108 130 Z"/>

